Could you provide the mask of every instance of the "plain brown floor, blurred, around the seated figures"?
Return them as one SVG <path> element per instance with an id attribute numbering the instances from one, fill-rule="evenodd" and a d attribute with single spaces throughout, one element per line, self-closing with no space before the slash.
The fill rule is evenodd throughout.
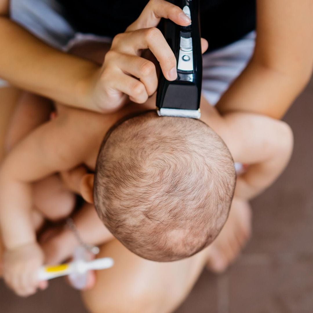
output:
<path id="1" fill-rule="evenodd" d="M 253 237 L 242 256 L 223 275 L 204 271 L 176 313 L 313 312 L 312 100 L 313 81 L 285 116 L 294 131 L 294 153 L 279 180 L 252 202 Z M 86 310 L 79 293 L 58 279 L 28 299 L 0 282 L 0 312 Z"/>

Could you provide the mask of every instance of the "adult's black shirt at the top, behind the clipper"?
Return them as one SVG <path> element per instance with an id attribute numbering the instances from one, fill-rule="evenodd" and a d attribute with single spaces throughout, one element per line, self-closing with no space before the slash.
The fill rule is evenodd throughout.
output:
<path id="1" fill-rule="evenodd" d="M 114 37 L 134 22 L 148 0 L 58 0 L 81 33 Z M 208 51 L 221 48 L 255 29 L 255 0 L 200 0 L 201 36 Z"/>

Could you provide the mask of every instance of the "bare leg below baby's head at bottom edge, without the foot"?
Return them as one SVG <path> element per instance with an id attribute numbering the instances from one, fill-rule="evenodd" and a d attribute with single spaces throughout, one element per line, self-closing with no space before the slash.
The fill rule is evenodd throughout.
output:
<path id="1" fill-rule="evenodd" d="M 96 284 L 83 292 L 92 313 L 172 312 L 197 281 L 206 262 L 206 249 L 175 262 L 142 259 L 113 240 L 101 248 L 99 257 L 110 256 L 111 269 L 96 272 Z"/>

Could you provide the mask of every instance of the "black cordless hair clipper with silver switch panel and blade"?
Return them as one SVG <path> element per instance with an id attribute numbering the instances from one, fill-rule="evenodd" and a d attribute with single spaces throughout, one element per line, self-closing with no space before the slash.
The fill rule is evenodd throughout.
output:
<path id="1" fill-rule="evenodd" d="M 177 60 L 177 79 L 167 80 L 162 72 L 156 95 L 159 116 L 200 118 L 202 53 L 199 0 L 169 0 L 191 19 L 188 26 L 164 20 L 164 37 Z"/>

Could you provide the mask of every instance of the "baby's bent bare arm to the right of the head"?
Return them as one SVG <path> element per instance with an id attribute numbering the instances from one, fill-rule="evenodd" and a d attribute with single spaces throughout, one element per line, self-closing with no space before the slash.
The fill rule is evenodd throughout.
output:
<path id="1" fill-rule="evenodd" d="M 237 179 L 235 195 L 251 199 L 269 187 L 285 169 L 293 148 L 290 127 L 250 113 L 225 116 L 231 136 L 225 138 L 234 161 L 248 164 Z"/>

